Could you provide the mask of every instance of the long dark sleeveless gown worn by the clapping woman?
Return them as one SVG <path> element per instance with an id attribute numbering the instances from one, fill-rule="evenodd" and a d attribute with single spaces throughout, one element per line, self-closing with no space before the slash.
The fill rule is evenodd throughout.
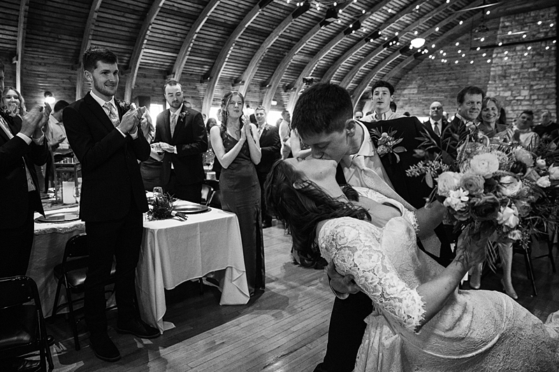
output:
<path id="1" fill-rule="evenodd" d="M 225 151 L 230 151 L 238 140 L 222 131 Z M 264 289 L 264 241 L 260 205 L 260 184 L 256 168 L 250 158 L 249 145 L 242 145 L 239 154 L 219 176 L 222 209 L 237 215 L 245 255 L 245 269 L 251 295 L 255 289 Z"/>

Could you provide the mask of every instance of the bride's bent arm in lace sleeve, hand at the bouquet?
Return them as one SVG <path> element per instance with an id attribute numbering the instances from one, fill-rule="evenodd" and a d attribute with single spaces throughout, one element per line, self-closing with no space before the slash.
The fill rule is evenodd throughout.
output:
<path id="1" fill-rule="evenodd" d="M 391 315 L 410 331 L 418 332 L 444 306 L 449 295 L 456 289 L 465 272 L 481 262 L 484 244 L 474 245 L 469 254 L 465 246 L 470 241 L 460 241 L 456 259 L 437 278 L 410 288 L 398 276 L 392 262 L 384 254 L 379 237 L 361 221 L 342 218 L 332 221 L 321 246 L 323 256 L 332 257 L 340 274 L 354 276 L 359 288 L 368 295 L 386 315 Z M 324 228 L 324 227 L 323 227 Z M 480 247 L 481 246 L 481 250 Z"/>

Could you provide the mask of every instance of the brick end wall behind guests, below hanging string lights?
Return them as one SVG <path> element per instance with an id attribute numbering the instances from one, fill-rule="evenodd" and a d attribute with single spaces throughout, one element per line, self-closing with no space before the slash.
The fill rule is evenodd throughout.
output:
<path id="1" fill-rule="evenodd" d="M 556 37 L 556 13 L 557 8 L 553 7 L 492 20 L 486 22 L 490 35 L 487 40 L 482 42 L 484 35 L 472 32 L 442 47 L 444 56 L 437 49 L 434 60 L 426 59 L 396 84 L 398 112 L 425 117 L 430 103 L 440 101 L 452 115 L 456 112 L 458 91 L 476 85 L 498 98 L 509 122 L 527 109 L 534 111 L 535 123 L 540 121 L 542 110 L 551 110 L 556 117 L 557 45 L 553 40 L 534 41 Z M 503 45 L 481 49 L 498 43 Z"/>

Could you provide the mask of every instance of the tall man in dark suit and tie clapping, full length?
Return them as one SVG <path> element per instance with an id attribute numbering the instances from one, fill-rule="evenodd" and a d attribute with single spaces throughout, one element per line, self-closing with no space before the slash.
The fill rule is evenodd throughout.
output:
<path id="1" fill-rule="evenodd" d="M 96 357 L 108 362 L 120 353 L 107 333 L 105 285 L 113 255 L 117 262 L 115 291 L 117 332 L 154 338 L 159 331 L 140 319 L 136 307 L 136 265 L 147 200 L 140 165 L 150 157 L 150 144 L 138 130 L 145 108 L 115 100 L 119 83 L 117 56 L 106 48 L 89 48 L 82 57 L 92 90 L 64 110 L 64 126 L 82 164 L 80 218 L 85 221 L 89 251 L 85 278 L 85 322 Z"/>

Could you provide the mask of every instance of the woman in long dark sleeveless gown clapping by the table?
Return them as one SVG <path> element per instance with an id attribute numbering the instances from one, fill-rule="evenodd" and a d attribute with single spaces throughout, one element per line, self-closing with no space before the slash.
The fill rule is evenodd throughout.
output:
<path id="1" fill-rule="evenodd" d="M 255 164 L 260 163 L 258 130 L 242 112 L 245 98 L 238 92 L 222 100 L 222 126 L 210 130 L 215 157 L 222 165 L 219 190 L 222 209 L 237 215 L 245 255 L 249 292 L 264 289 L 264 246 L 260 186 Z"/>

